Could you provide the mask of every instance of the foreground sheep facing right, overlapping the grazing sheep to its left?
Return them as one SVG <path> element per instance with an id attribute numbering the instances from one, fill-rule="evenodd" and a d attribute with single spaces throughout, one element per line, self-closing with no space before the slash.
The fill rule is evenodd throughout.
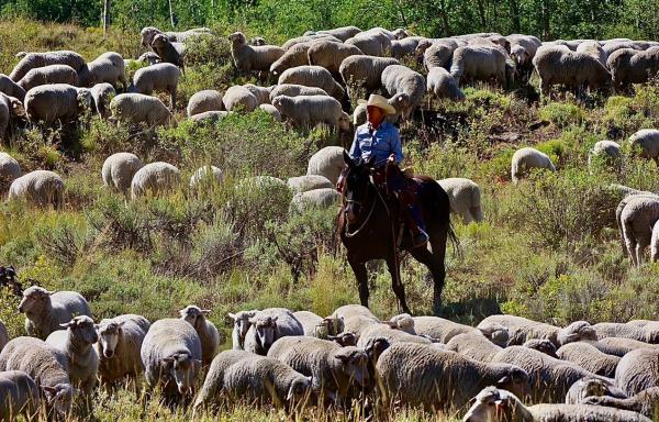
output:
<path id="1" fill-rule="evenodd" d="M 313 391 L 334 403 L 349 400 L 350 390 L 362 389 L 370 382 L 366 352 L 327 340 L 282 337 L 272 344 L 268 357 L 311 377 Z"/>

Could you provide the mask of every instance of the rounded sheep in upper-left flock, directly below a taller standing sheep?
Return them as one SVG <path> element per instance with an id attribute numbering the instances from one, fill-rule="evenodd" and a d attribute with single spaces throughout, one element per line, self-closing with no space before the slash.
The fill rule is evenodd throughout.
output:
<path id="1" fill-rule="evenodd" d="M 139 124 L 148 127 L 169 127 L 174 118 L 163 101 L 143 93 L 120 93 L 110 101 L 113 118 L 120 123 Z"/>

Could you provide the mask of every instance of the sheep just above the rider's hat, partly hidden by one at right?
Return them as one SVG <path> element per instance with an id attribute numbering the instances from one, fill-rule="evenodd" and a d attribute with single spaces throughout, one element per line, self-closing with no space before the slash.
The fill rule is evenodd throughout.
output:
<path id="1" fill-rule="evenodd" d="M 388 66 L 401 63 L 391 57 L 350 56 L 338 67 L 338 73 L 346 86 L 350 89 L 350 96 L 355 97 L 358 90 L 366 90 L 368 98 L 372 91 L 380 88 L 382 71 Z"/>

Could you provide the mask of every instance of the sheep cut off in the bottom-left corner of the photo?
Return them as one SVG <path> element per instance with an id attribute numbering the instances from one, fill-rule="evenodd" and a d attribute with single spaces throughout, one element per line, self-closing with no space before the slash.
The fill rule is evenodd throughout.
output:
<path id="1" fill-rule="evenodd" d="M 23 414 L 36 420 L 40 391 L 34 379 L 22 370 L 0 373 L 0 420 L 13 421 Z"/>

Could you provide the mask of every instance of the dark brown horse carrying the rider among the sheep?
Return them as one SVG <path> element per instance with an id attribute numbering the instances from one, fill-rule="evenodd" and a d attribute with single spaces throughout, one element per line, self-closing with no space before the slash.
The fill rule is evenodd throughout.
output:
<path id="1" fill-rule="evenodd" d="M 372 163 L 351 159 L 344 152 L 347 170 L 344 176 L 343 206 L 337 218 L 337 229 L 348 252 L 348 263 L 359 285 L 359 300 L 368 307 L 368 275 L 366 263 L 386 259 L 391 274 L 391 287 L 403 312 L 410 313 L 405 302 L 405 289 L 401 281 L 399 248 L 407 251 L 416 260 L 425 264 L 434 281 L 433 311 L 439 314 L 442 289 L 446 271 L 444 257 L 448 238 L 457 247 L 458 240 L 451 229 L 448 196 L 439 184 L 426 176 L 415 176 L 418 182 L 417 198 L 429 246 L 412 247 L 411 236 L 401 224 L 400 202 L 388 196 L 373 181 Z"/>

